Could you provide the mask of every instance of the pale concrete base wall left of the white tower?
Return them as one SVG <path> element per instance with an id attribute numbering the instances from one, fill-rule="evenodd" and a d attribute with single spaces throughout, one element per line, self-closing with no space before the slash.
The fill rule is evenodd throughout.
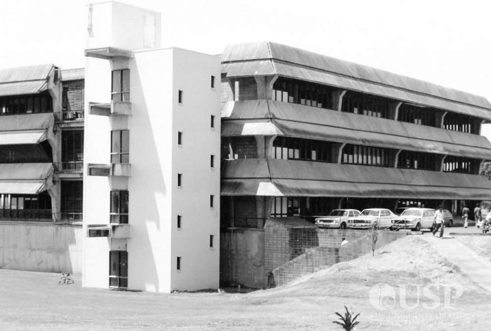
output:
<path id="1" fill-rule="evenodd" d="M 0 223 L 0 268 L 82 273 L 82 226 Z"/>

